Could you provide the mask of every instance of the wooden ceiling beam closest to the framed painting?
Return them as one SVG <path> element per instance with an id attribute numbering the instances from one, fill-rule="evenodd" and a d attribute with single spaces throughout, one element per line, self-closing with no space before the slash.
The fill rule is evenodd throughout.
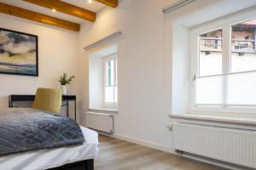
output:
<path id="1" fill-rule="evenodd" d="M 15 7 L 7 3 L 0 3 L 0 13 L 9 14 L 26 20 L 40 22 L 49 26 L 57 26 L 71 31 L 80 30 L 79 24 L 51 17 L 46 14 L 36 13 L 25 8 Z"/>

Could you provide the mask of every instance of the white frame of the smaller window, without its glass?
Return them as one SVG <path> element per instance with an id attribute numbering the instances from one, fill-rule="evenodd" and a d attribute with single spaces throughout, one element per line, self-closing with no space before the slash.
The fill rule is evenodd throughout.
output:
<path id="1" fill-rule="evenodd" d="M 106 62 L 110 61 L 110 60 L 114 60 L 113 62 L 113 72 L 115 72 L 116 74 L 113 75 L 113 82 L 114 85 L 113 86 L 107 86 L 106 85 Z M 113 98 L 115 98 L 115 93 L 118 94 L 118 59 L 117 59 L 117 53 L 114 54 L 110 54 L 108 56 L 105 56 L 102 59 L 102 65 L 103 65 L 103 80 L 102 80 L 102 92 L 103 92 L 103 101 L 102 101 L 102 106 L 103 108 L 108 108 L 108 109 L 118 109 L 118 99 L 117 102 L 105 102 L 105 88 L 106 87 L 116 87 L 117 90 L 113 90 Z M 118 98 L 118 97 L 117 97 Z"/>

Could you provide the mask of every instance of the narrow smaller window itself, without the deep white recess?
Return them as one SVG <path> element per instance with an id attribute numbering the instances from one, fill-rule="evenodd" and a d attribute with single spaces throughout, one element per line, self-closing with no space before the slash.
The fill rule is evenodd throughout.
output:
<path id="1" fill-rule="evenodd" d="M 104 107 L 116 108 L 118 104 L 117 58 L 112 54 L 104 58 Z"/>

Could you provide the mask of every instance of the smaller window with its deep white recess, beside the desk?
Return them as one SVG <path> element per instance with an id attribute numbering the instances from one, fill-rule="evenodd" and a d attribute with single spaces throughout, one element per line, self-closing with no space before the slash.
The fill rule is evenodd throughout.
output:
<path id="1" fill-rule="evenodd" d="M 99 47 L 89 54 L 89 108 L 117 111 L 117 44 Z"/>

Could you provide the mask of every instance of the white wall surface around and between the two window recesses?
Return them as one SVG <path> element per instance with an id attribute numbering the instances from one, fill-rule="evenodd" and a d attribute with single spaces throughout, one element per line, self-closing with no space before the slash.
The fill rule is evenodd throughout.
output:
<path id="1" fill-rule="evenodd" d="M 172 89 L 172 22 L 219 1 L 199 0 L 177 14 L 164 15 L 162 8 L 177 1 L 123 0 L 118 8 L 103 9 L 93 25 L 82 26 L 79 32 L 82 114 L 89 104 L 88 54 L 83 48 L 121 30 L 123 35 L 118 40 L 119 113 L 114 116 L 113 135 L 172 151 L 172 131 L 167 127 L 168 115 L 172 112 L 172 90 L 182 90 Z M 174 61 L 177 61 L 176 68 L 182 65 L 180 59 Z M 188 63 L 181 68 L 186 65 Z M 178 73 L 181 69 L 174 71 Z M 181 75 L 186 77 L 188 73 Z M 181 107 L 180 104 L 177 107 Z"/>

